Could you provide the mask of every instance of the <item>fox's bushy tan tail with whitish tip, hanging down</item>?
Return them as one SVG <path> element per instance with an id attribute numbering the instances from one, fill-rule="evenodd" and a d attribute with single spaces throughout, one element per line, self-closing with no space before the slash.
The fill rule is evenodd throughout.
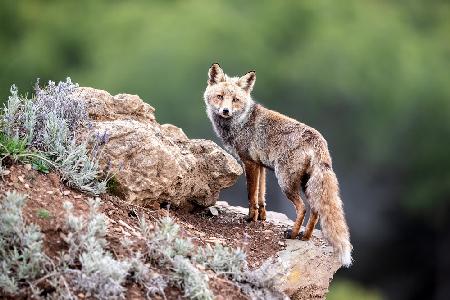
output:
<path id="1" fill-rule="evenodd" d="M 325 238 L 337 251 L 342 265 L 352 264 L 352 245 L 345 221 L 336 174 L 327 163 L 319 162 L 313 168 L 306 186 L 311 206 L 320 216 L 320 226 Z"/>

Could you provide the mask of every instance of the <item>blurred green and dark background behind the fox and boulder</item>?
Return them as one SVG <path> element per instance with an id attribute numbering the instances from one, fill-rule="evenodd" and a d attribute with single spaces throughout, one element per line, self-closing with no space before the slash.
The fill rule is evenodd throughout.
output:
<path id="1" fill-rule="evenodd" d="M 355 265 L 329 299 L 450 295 L 448 1 L 0 1 L 0 95 L 70 76 L 215 139 L 207 70 L 327 138 Z M 273 175 L 269 209 L 293 217 Z M 222 197 L 247 205 L 243 181 Z M 300 258 L 301 259 L 301 258 Z"/>

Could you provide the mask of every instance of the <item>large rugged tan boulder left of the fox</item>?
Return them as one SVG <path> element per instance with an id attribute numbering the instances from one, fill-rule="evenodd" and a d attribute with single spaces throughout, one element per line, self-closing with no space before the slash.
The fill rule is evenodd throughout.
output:
<path id="1" fill-rule="evenodd" d="M 116 171 L 115 179 L 126 201 L 156 207 L 213 205 L 221 189 L 233 185 L 242 168 L 217 144 L 188 139 L 173 125 L 160 125 L 155 109 L 136 95 L 79 88 L 92 129 L 106 144 L 100 160 Z"/>

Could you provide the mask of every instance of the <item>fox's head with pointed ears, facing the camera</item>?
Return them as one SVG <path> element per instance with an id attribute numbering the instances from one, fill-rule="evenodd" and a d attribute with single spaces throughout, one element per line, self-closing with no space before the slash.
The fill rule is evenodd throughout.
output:
<path id="1" fill-rule="evenodd" d="M 219 64 L 213 64 L 208 71 L 208 87 L 203 96 L 208 116 L 211 118 L 215 114 L 225 119 L 243 120 L 253 103 L 250 92 L 255 80 L 255 71 L 242 77 L 228 77 Z"/>

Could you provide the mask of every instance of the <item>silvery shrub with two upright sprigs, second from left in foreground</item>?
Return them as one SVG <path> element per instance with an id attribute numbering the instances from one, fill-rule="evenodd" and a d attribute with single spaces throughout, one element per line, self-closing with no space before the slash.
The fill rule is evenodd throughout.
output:
<path id="1" fill-rule="evenodd" d="M 62 255 L 66 268 L 75 263 L 81 269 L 62 270 L 74 290 L 89 293 L 96 299 L 122 299 L 123 283 L 131 267 L 128 261 L 114 259 L 106 252 L 105 216 L 98 213 L 100 202 L 89 201 L 89 215 L 85 219 L 73 213 L 70 202 L 64 203 L 68 234 L 64 240 L 69 245 L 67 255 Z"/>

